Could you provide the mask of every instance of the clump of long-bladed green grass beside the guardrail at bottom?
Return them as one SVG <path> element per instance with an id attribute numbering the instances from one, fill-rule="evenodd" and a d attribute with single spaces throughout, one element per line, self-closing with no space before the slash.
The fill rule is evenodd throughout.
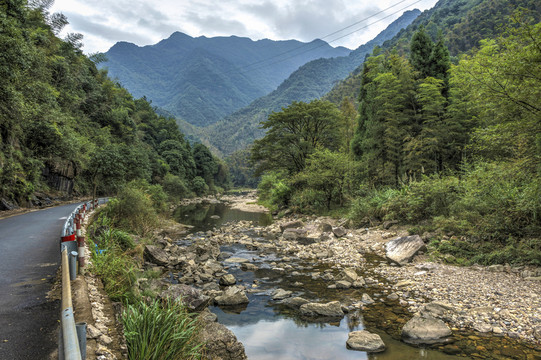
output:
<path id="1" fill-rule="evenodd" d="M 130 360 L 200 359 L 198 324 L 172 300 L 138 301 L 122 313 Z"/>

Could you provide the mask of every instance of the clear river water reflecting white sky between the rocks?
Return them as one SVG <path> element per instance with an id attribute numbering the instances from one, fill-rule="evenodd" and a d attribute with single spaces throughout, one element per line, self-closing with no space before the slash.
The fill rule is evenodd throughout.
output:
<path id="1" fill-rule="evenodd" d="M 183 224 L 194 226 L 191 235 L 194 237 L 204 237 L 205 231 L 232 221 L 247 220 L 256 226 L 267 226 L 272 221 L 268 214 L 233 210 L 223 204 L 182 207 L 175 211 L 174 217 Z M 251 234 L 249 230 L 246 233 Z M 187 239 L 189 241 L 189 236 Z M 263 238 L 258 240 L 265 242 Z M 218 321 L 232 330 L 244 344 L 250 360 L 451 360 L 474 358 L 469 355 L 477 355 L 476 349 L 479 349 L 479 346 L 483 348 L 500 346 L 499 339 L 481 339 L 471 334 L 454 336 L 454 345 L 439 346 L 439 349 L 438 346 L 434 347 L 435 349 L 428 349 L 407 345 L 399 340 L 398 334 L 411 314 L 407 314 L 396 302 L 388 300 L 385 290 L 370 285 L 362 289 L 329 289 L 327 288 L 329 283 L 321 279 L 314 280 L 312 273 L 338 275 L 338 271 L 332 268 L 295 257 L 283 259 L 274 253 L 262 254 L 240 244 L 222 246 L 221 251 L 224 254 L 223 264 L 226 271 L 233 274 L 237 282 L 247 288 L 250 302 L 241 307 L 214 306 L 210 309 L 218 316 Z M 227 257 L 248 259 L 258 267 L 258 270 L 242 271 L 240 263 L 227 262 Z M 374 267 L 381 261 L 382 259 L 378 258 L 368 259 Z M 301 317 L 297 310 L 284 306 L 280 301 L 272 300 L 272 293 L 278 288 L 292 291 L 292 296 L 301 296 L 310 301 L 339 300 L 342 304 L 351 303 L 352 299 L 360 299 L 363 293 L 367 293 L 376 303 L 362 310 L 352 309 L 342 319 L 314 321 Z M 368 354 L 347 349 L 348 333 L 362 329 L 379 334 L 386 345 L 386 350 L 378 354 Z M 461 356 L 448 354 L 449 350 L 453 350 L 454 353 L 459 347 L 469 347 L 469 350 L 461 353 Z M 485 353 L 480 358 L 513 357 L 491 357 Z"/>

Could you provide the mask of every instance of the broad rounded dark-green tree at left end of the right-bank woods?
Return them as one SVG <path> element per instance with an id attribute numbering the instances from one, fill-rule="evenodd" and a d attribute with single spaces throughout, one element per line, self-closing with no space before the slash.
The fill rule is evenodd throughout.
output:
<path id="1" fill-rule="evenodd" d="M 256 176 L 267 170 L 302 171 L 316 148 L 339 147 L 340 111 L 329 101 L 293 102 L 263 121 L 266 135 L 254 142 Z"/>

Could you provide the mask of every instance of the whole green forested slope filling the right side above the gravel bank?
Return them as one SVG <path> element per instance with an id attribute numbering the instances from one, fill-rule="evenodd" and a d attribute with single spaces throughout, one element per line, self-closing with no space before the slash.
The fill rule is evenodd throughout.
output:
<path id="1" fill-rule="evenodd" d="M 269 116 L 251 148 L 261 200 L 303 213 L 346 204 L 353 224 L 407 224 L 441 261 L 540 265 L 540 12 L 508 6 L 441 1 L 375 48 L 334 103 Z M 447 39 L 453 49 L 476 17 L 471 31 L 487 38 L 462 42 L 453 59 Z M 434 19 L 454 26 L 432 38 Z"/>

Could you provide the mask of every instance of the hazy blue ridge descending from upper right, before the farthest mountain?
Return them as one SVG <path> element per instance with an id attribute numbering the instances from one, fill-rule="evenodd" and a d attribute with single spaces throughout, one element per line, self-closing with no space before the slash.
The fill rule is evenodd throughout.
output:
<path id="1" fill-rule="evenodd" d="M 263 135 L 263 130 L 259 129 L 259 123 L 265 120 L 272 111 L 278 111 L 293 101 L 310 101 L 322 97 L 337 81 L 347 77 L 351 71 L 362 64 L 374 46 L 382 45 L 391 39 L 415 20 L 420 13 L 421 11 L 417 9 L 406 11 L 374 39 L 361 45 L 348 56 L 321 58 L 304 64 L 270 94 L 254 100 L 250 105 L 206 129 L 194 129 L 180 122 L 181 128 L 187 134 L 195 132 L 197 137 L 221 155 L 245 148 Z"/>

